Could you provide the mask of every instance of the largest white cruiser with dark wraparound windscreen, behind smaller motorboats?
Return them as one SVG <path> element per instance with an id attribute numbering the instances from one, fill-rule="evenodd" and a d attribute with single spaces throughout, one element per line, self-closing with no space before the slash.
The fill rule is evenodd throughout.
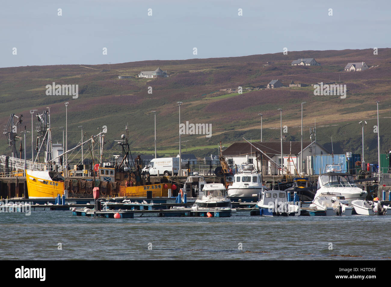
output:
<path id="1" fill-rule="evenodd" d="M 327 193 L 343 196 L 349 205 L 353 200 L 364 200 L 368 194 L 366 191 L 357 187 L 353 175 L 334 172 L 319 175 L 315 198 Z"/>

